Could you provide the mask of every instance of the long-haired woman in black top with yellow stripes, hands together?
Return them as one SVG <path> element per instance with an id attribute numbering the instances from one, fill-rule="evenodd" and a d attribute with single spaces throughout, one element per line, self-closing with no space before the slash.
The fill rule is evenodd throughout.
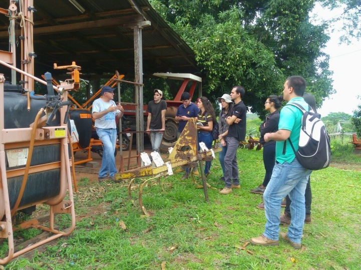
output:
<path id="1" fill-rule="evenodd" d="M 197 106 L 199 108 L 198 119 L 197 119 L 197 145 L 198 150 L 200 149 L 199 143 L 204 142 L 208 149 L 212 147 L 212 129 L 213 122 L 216 121 L 216 115 L 214 113 L 214 109 L 212 103 L 208 100 L 207 97 L 201 96 L 198 98 Z M 204 167 L 204 174 L 207 177 L 209 174 L 209 169 L 211 168 L 211 161 L 206 161 Z M 189 176 L 189 169 L 186 169 L 185 174 L 182 179 L 187 179 Z"/>

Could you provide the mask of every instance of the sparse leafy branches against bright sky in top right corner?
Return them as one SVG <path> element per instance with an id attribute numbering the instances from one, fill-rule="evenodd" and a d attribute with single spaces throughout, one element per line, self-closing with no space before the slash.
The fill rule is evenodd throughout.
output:
<path id="1" fill-rule="evenodd" d="M 323 7 L 329 9 L 341 8 L 342 12 L 335 17 L 325 21 L 327 24 L 341 21 L 343 23 L 341 42 L 350 43 L 355 37 L 357 40 L 361 37 L 361 1 L 360 0 L 319 0 Z"/>

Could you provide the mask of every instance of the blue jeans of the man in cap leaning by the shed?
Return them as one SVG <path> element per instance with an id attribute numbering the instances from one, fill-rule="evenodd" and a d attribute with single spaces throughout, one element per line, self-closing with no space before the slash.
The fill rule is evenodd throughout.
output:
<path id="1" fill-rule="evenodd" d="M 114 176 L 118 172 L 115 166 L 115 144 L 117 142 L 117 129 L 115 128 L 96 128 L 99 139 L 103 142 L 103 159 L 99 170 L 99 177 Z"/>

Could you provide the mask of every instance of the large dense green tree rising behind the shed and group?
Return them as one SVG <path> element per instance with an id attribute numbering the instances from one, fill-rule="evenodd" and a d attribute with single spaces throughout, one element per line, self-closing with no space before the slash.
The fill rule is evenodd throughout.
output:
<path id="1" fill-rule="evenodd" d="M 233 85 L 264 116 L 264 101 L 281 94 L 290 75 L 302 75 L 319 105 L 332 93 L 325 25 L 308 22 L 310 0 L 150 0 L 190 45 L 204 74 L 203 89 L 215 100 Z"/>

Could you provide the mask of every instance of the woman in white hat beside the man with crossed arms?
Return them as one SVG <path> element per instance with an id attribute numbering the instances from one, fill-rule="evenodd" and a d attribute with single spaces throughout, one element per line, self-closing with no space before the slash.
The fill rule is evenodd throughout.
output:
<path id="1" fill-rule="evenodd" d="M 218 102 L 221 103 L 222 110 L 219 113 L 218 125 L 219 125 L 219 139 L 222 146 L 222 151 L 219 152 L 219 163 L 221 163 L 223 175 L 219 180 L 224 181 L 224 156 L 227 152 L 226 137 L 228 134 L 229 124 L 226 122 L 228 116 L 232 116 L 233 113 L 233 102 L 229 94 L 223 94 L 222 97 L 218 97 Z"/>

